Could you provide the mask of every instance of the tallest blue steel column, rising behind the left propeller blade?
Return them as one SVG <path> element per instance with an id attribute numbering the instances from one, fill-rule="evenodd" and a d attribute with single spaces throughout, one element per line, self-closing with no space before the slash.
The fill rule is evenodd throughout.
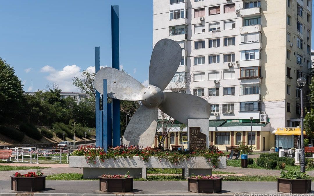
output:
<path id="1" fill-rule="evenodd" d="M 119 6 L 111 6 L 112 67 L 120 69 L 119 61 Z M 120 100 L 112 99 L 113 146 L 120 146 Z"/>

